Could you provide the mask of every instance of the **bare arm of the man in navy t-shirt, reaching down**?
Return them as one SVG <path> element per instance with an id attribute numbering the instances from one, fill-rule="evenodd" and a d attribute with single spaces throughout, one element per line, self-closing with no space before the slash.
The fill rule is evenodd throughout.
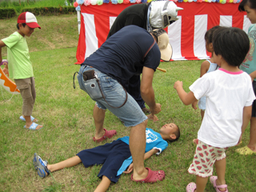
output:
<path id="1" fill-rule="evenodd" d="M 158 114 L 161 111 L 161 105 L 154 101 L 153 77 L 154 70 L 144 66 L 142 70 L 141 95 L 144 102 L 150 107 L 151 114 Z"/>

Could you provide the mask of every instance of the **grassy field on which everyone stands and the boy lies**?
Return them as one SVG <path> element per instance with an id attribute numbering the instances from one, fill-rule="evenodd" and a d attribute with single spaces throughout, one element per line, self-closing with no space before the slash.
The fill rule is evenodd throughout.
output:
<path id="1" fill-rule="evenodd" d="M 15 31 L 16 19 L 0 21 L 0 39 Z M 59 17 L 38 17 L 42 30 L 35 30 L 27 38 L 30 58 L 34 66 L 37 98 L 33 116 L 44 126 L 42 130 L 25 130 L 22 114 L 22 98 L 9 94 L 0 87 L 0 191 L 93 191 L 100 180 L 97 178 L 101 166 L 85 169 L 82 164 L 54 172 L 46 178 L 38 177 L 32 158 L 38 153 L 50 163 L 73 157 L 80 150 L 98 146 L 94 137 L 93 106 L 90 97 L 79 89 L 73 74 L 79 70 L 76 62 L 78 42 L 75 15 Z M 3 33 L 2 33 L 3 31 Z M 6 50 L 3 53 L 6 57 Z M 181 138 L 159 156 L 146 160 L 152 170 L 165 170 L 166 179 L 155 184 L 138 184 L 130 181 L 130 174 L 123 174 L 117 184 L 111 184 L 108 191 L 185 191 L 189 182 L 195 182 L 194 175 L 187 173 L 192 162 L 201 124 L 199 110 L 184 106 L 173 85 L 183 82 L 186 91 L 199 77 L 202 61 L 163 62 L 159 67 L 166 73 L 154 74 L 156 101 L 162 104 L 158 122 L 149 122 L 148 127 L 159 130 L 168 122 L 176 123 L 181 129 Z M 11 99 L 10 99 L 11 98 Z M 10 99 L 10 100 L 9 100 Z M 128 135 L 130 128 L 109 111 L 106 112 L 106 129 L 115 129 L 117 136 L 105 142 Z M 246 129 L 241 146 L 249 142 L 249 128 Z M 226 183 L 231 192 L 256 191 L 256 155 L 241 156 L 231 147 L 226 152 Z M 214 172 L 214 174 L 216 174 Z M 214 192 L 210 182 L 206 191 Z"/>

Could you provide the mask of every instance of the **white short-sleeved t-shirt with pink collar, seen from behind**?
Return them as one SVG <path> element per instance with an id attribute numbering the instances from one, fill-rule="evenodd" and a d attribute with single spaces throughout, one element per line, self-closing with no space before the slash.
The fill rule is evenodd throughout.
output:
<path id="1" fill-rule="evenodd" d="M 206 111 L 198 131 L 198 139 L 210 146 L 235 146 L 241 135 L 244 106 L 254 102 L 250 76 L 244 72 L 230 72 L 222 68 L 190 86 L 194 97 L 206 96 Z"/>

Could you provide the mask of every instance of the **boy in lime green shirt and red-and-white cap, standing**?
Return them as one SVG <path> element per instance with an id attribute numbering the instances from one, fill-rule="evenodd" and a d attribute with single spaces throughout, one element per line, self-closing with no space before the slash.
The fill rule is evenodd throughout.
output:
<path id="1" fill-rule="evenodd" d="M 31 116 L 36 93 L 34 89 L 34 74 L 32 63 L 30 62 L 29 48 L 26 44 L 26 38 L 34 32 L 34 28 L 41 27 L 34 14 L 24 12 L 18 16 L 18 31 L 11 34 L 8 38 L 0 41 L 0 62 L 2 62 L 2 47 L 7 46 L 7 60 L 3 72 L 14 78 L 17 88 L 20 90 L 23 99 L 22 116 L 20 119 L 26 122 L 24 128 L 30 130 L 39 130 L 42 128 L 35 122 L 36 118 Z"/>

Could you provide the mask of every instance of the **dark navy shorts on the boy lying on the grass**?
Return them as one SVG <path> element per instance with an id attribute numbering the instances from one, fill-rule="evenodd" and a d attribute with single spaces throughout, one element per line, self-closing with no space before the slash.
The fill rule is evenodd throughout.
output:
<path id="1" fill-rule="evenodd" d="M 118 170 L 122 162 L 131 156 L 129 145 L 121 140 L 82 150 L 77 155 L 85 167 L 103 164 L 98 177 L 105 175 L 111 182 L 118 182 Z"/>

